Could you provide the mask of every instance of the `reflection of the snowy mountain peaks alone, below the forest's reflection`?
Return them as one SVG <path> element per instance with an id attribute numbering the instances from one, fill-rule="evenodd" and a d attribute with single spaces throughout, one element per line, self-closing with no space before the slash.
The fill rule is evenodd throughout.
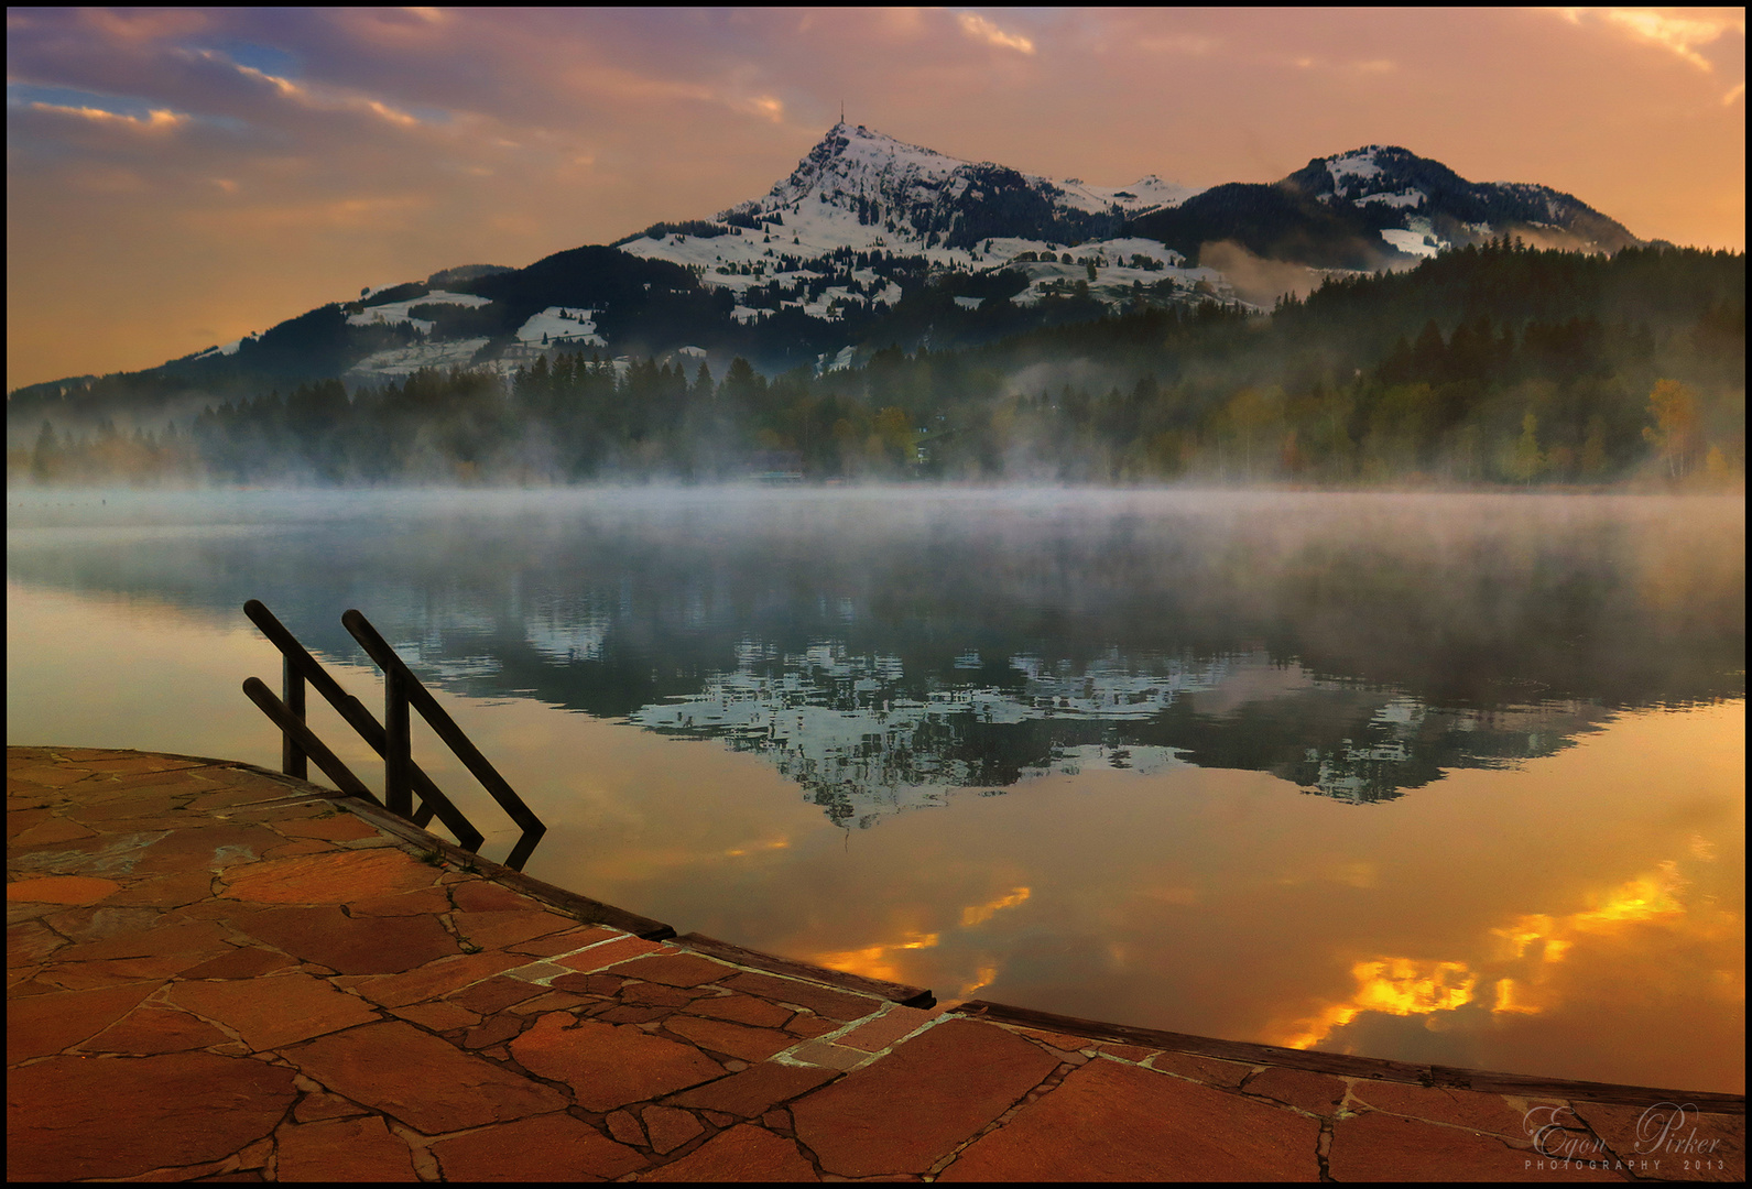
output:
<path id="1" fill-rule="evenodd" d="M 1116 651 L 1083 671 L 1011 657 L 1020 688 L 932 674 L 920 695 L 897 657 L 848 657 L 834 644 L 773 657 L 746 641 L 738 651 L 738 667 L 708 676 L 699 693 L 629 720 L 762 753 L 834 821 L 858 827 L 941 804 L 953 790 L 999 786 L 981 790 L 993 795 L 1025 776 L 1088 765 L 1256 769 L 1310 793 L 1379 802 L 1440 779 L 1444 767 L 1551 755 L 1605 718 L 1577 702 L 1440 711 L 1318 681 L 1265 653 L 1128 665 Z M 1247 686 L 1246 702 L 1200 711 L 1200 693 L 1237 685 Z"/>

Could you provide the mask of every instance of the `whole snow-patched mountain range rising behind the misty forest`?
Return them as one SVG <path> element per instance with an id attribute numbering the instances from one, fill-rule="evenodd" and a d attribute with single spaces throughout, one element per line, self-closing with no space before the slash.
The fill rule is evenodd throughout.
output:
<path id="1" fill-rule="evenodd" d="M 841 123 L 771 191 L 713 219 L 520 270 L 468 264 L 366 287 L 163 369 L 373 383 L 420 368 L 510 371 L 561 350 L 708 359 L 720 373 L 734 355 L 825 369 L 885 345 L 992 341 L 1121 308 L 1267 308 L 1272 292 L 1219 271 L 1237 257 L 1403 268 L 1501 235 L 1589 252 L 1640 243 L 1572 194 L 1468 182 L 1400 147 L 1316 158 L 1272 184 L 1198 191 L 1148 175 L 1104 187 Z"/>

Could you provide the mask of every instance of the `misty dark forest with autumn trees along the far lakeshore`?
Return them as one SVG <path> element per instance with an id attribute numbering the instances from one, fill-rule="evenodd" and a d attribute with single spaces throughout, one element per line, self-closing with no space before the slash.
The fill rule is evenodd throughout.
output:
<path id="1" fill-rule="evenodd" d="M 1090 319 L 1067 291 L 995 341 L 1002 285 L 969 310 L 965 284 L 897 310 L 927 341 L 978 343 L 953 350 L 871 341 L 860 366 L 774 378 L 554 352 L 350 394 L 291 383 L 165 433 L 46 424 L 9 475 L 1720 485 L 1745 469 L 1743 254 L 1494 242 L 1270 315 L 1141 301 Z"/>

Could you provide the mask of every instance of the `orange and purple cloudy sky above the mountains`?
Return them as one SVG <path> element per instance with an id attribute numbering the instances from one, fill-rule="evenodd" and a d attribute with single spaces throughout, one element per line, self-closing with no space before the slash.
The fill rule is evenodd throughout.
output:
<path id="1" fill-rule="evenodd" d="M 710 217 L 841 103 L 1099 186 L 1396 144 L 1745 250 L 1745 9 L 9 9 L 7 389 Z"/>

